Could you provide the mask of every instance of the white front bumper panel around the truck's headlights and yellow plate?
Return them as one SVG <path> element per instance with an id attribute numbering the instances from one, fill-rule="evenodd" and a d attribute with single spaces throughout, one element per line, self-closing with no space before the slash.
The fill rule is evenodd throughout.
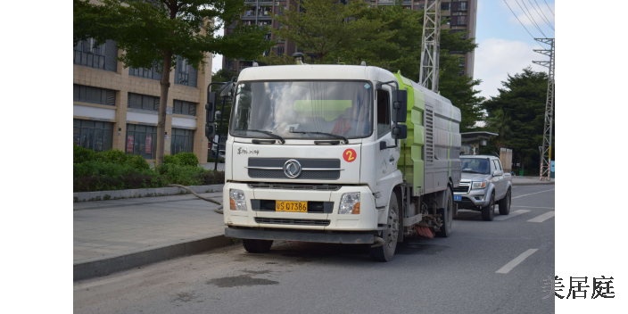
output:
<path id="1" fill-rule="evenodd" d="M 244 192 L 246 211 L 231 211 L 229 190 Z M 341 197 L 345 193 L 360 193 L 359 214 L 339 214 Z M 253 211 L 252 200 L 333 202 L 331 212 Z M 335 191 L 284 190 L 252 188 L 246 183 L 227 182 L 223 188 L 224 221 L 227 227 L 265 227 L 293 230 L 373 231 L 384 218 L 386 208 L 376 208 L 373 192 L 368 186 L 341 186 Z M 302 240 L 299 240 L 302 241 Z"/>

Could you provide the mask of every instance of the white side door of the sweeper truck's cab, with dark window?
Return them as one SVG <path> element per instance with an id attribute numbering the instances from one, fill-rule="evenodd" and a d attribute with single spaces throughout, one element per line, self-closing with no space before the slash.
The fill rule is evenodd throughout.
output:
<path id="1" fill-rule="evenodd" d="M 386 146 L 394 145 L 394 139 L 392 139 L 391 133 L 391 106 L 392 106 L 392 88 L 384 86 L 382 89 L 377 90 L 376 95 L 376 178 L 377 178 L 377 191 L 382 192 L 381 198 L 377 201 L 384 202 L 380 204 L 377 202 L 377 206 L 384 206 L 388 204 L 388 192 L 392 188 L 392 173 L 397 169 L 397 158 L 399 153 L 396 148 L 385 148 L 380 150 L 380 142 L 384 142 Z"/>

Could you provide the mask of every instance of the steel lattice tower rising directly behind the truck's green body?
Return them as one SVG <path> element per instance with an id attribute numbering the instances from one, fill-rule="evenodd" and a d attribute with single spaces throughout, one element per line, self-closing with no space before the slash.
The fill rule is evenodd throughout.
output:
<path id="1" fill-rule="evenodd" d="M 441 54 L 441 0 L 432 4 L 426 0 L 423 18 L 423 41 L 421 45 L 421 81 L 422 87 L 438 93 L 438 60 Z"/>

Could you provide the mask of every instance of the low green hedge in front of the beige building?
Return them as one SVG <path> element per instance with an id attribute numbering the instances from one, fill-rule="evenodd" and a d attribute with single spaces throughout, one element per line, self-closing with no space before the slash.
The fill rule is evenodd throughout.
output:
<path id="1" fill-rule="evenodd" d="M 73 192 L 163 187 L 169 184 L 200 186 L 223 184 L 225 173 L 202 168 L 194 153 L 164 156 L 155 169 L 142 156 L 120 150 L 96 153 L 74 144 Z"/>

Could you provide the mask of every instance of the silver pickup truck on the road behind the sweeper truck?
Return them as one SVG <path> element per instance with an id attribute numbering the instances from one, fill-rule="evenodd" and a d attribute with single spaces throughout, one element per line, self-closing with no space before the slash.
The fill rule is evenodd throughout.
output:
<path id="1" fill-rule="evenodd" d="M 460 156 L 462 178 L 453 188 L 453 199 L 462 210 L 482 211 L 482 219 L 492 221 L 495 203 L 500 215 L 510 212 L 512 176 L 504 173 L 500 159 L 487 155 Z"/>

